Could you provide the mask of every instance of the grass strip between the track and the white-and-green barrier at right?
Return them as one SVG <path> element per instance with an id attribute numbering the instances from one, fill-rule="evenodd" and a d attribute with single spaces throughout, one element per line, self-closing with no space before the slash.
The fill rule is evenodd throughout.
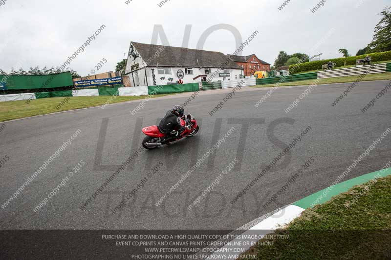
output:
<path id="1" fill-rule="evenodd" d="M 333 84 L 333 83 L 348 83 L 348 82 L 354 82 L 358 79 L 358 76 L 345 76 L 345 77 L 337 77 L 337 78 L 328 78 L 328 79 L 319 79 L 317 81 L 315 80 L 301 80 L 301 81 L 294 81 L 294 82 L 285 82 L 279 84 L 280 87 L 282 86 L 301 86 L 301 85 L 311 85 L 314 82 L 317 82 L 318 85 L 322 84 Z M 367 74 L 361 81 L 370 81 L 370 80 L 391 80 L 391 72 L 385 72 L 385 73 L 376 73 L 376 74 Z M 273 87 L 276 84 L 267 84 L 267 85 L 256 85 L 252 87 Z"/>

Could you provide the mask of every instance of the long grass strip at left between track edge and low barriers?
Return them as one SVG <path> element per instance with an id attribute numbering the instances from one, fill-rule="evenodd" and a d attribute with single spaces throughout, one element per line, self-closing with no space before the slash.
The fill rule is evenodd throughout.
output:
<path id="1" fill-rule="evenodd" d="M 174 94 L 154 95 L 153 98 L 163 97 Z M 29 103 L 26 100 L 0 102 L 0 122 L 27 118 L 32 116 L 45 115 L 60 111 L 73 109 L 87 108 L 100 106 L 109 101 L 109 104 L 130 101 L 142 100 L 147 96 L 96 96 L 96 97 L 61 97 L 61 98 L 46 98 L 31 100 Z M 68 99 L 66 101 L 66 99 Z M 59 109 L 56 106 L 65 103 Z"/>

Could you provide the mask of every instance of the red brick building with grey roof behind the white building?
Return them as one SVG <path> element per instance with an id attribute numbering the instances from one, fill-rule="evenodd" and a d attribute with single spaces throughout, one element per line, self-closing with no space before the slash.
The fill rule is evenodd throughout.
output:
<path id="1" fill-rule="evenodd" d="M 251 77 L 256 71 L 270 71 L 270 63 L 258 59 L 255 54 L 249 56 L 227 55 L 244 70 L 244 76 Z"/>

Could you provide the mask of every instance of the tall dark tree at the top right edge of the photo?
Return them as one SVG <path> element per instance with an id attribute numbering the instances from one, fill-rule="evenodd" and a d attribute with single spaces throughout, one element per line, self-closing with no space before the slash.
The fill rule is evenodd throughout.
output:
<path id="1" fill-rule="evenodd" d="M 382 18 L 375 26 L 373 39 L 366 53 L 391 50 L 391 6 L 386 7 L 379 15 L 382 15 Z"/>

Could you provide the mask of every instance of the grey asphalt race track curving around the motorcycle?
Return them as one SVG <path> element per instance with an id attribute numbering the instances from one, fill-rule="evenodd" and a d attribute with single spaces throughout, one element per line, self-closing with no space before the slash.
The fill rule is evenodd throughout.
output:
<path id="1" fill-rule="evenodd" d="M 152 151 L 144 150 L 96 199 L 80 207 L 141 145 L 141 128 L 156 124 L 174 104 L 192 93 L 152 99 L 135 116 L 141 100 L 5 122 L 0 132 L 0 205 L 34 174 L 78 129 L 81 133 L 40 175 L 0 209 L 1 229 L 236 229 L 263 214 L 329 186 L 391 127 L 390 93 L 365 114 L 360 111 L 390 81 L 361 82 L 336 106 L 331 103 L 348 87 L 320 85 L 288 114 L 289 106 L 306 87 L 284 87 L 256 108 L 266 88 L 242 88 L 213 116 L 209 112 L 232 89 L 201 92 L 185 108 L 201 125 L 195 137 Z M 1 125 L 2 123 L 0 123 Z M 308 126 L 310 131 L 291 152 L 267 172 L 236 203 L 231 201 L 284 146 Z M 189 168 L 229 129 L 216 153 L 183 181 L 164 203 L 155 206 Z M 391 136 L 349 173 L 348 179 L 380 170 L 390 160 Z M 313 164 L 277 200 L 262 207 L 297 174 L 310 158 Z M 187 207 L 227 169 L 214 189 L 192 210 Z M 33 209 L 83 160 L 85 165 L 59 188 L 41 209 Z M 123 208 L 113 209 L 159 161 L 163 166 L 138 189 Z M 227 169 L 228 170 L 228 169 Z"/>

